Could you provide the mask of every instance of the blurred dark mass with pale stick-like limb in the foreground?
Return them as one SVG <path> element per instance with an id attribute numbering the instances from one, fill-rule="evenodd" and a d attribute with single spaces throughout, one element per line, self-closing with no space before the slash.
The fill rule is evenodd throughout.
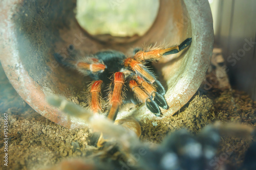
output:
<path id="1" fill-rule="evenodd" d="M 55 106 L 62 106 L 62 111 L 77 110 L 78 113 L 82 112 L 82 108 L 79 106 L 56 96 L 49 101 L 51 104 L 54 101 L 60 101 Z M 86 112 L 84 110 L 84 113 Z M 84 120 L 89 125 L 97 128 L 103 134 L 108 132 L 106 129 L 111 129 L 112 133 L 108 132 L 108 136 L 115 140 L 106 142 L 101 151 L 90 156 L 90 159 L 64 161 L 51 169 L 230 169 L 225 164 L 216 162 L 217 150 L 223 135 L 242 136 L 244 138 L 253 136 L 254 141 L 246 152 L 245 163 L 242 167 L 232 167 L 232 169 L 249 170 L 255 167 L 256 152 L 253 151 L 256 150 L 256 131 L 251 126 L 237 123 L 215 123 L 204 127 L 197 135 L 180 129 L 166 136 L 157 147 L 150 148 L 148 144 L 139 142 L 136 137 L 127 133 L 128 131 L 125 132 L 121 126 L 111 125 L 109 120 L 105 118 L 97 120 L 94 115 L 86 114 Z M 77 113 L 69 112 L 69 115 L 77 115 Z M 104 127 L 95 126 L 98 121 Z M 123 136 L 129 140 L 124 142 Z"/>

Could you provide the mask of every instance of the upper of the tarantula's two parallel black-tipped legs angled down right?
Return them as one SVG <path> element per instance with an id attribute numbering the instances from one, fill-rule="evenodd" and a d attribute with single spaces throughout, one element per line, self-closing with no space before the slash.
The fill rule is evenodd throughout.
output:
<path id="1" fill-rule="evenodd" d="M 151 96 L 151 99 L 153 99 L 158 106 L 160 106 L 163 109 L 168 109 L 168 105 L 163 95 L 159 94 L 153 85 L 147 83 L 144 79 L 142 79 L 139 76 L 137 77 L 137 81 L 144 88 L 144 90 Z"/>

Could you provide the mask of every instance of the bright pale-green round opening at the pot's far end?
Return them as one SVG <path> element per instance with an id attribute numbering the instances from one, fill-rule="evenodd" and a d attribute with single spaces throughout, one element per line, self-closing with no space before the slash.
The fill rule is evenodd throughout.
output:
<path id="1" fill-rule="evenodd" d="M 77 0 L 76 18 L 91 35 L 144 35 L 156 19 L 159 0 Z"/>

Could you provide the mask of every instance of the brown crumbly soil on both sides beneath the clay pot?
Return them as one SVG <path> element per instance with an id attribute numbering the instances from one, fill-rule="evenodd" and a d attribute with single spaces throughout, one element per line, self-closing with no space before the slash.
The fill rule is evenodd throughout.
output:
<path id="1" fill-rule="evenodd" d="M 210 67 L 211 68 L 211 67 Z M 90 144 L 92 130 L 66 129 L 30 108 L 9 84 L 0 66 L 0 155 L 4 154 L 4 113 L 8 114 L 8 169 L 45 169 L 66 159 L 84 158 L 98 151 Z M 206 125 L 219 122 L 238 122 L 256 126 L 256 102 L 244 92 L 233 90 L 223 81 L 205 88 L 209 79 L 219 80 L 215 70 L 207 73 L 198 92 L 179 112 L 172 117 L 152 121 L 144 119 L 142 142 L 160 143 L 169 133 L 187 128 L 199 132 Z M 232 152 L 225 160 L 230 166 L 239 166 L 251 139 L 223 137 L 219 153 Z M 1 161 L 2 162 L 2 161 Z M 1 169 L 6 168 L 3 162 Z"/>

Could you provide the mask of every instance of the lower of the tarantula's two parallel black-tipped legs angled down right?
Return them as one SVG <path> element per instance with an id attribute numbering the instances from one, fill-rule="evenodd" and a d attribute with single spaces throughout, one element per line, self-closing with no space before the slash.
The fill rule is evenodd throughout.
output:
<path id="1" fill-rule="evenodd" d="M 150 99 L 150 96 L 139 87 L 135 80 L 131 80 L 129 86 L 139 102 L 146 103 L 148 110 L 155 113 L 156 116 L 160 116 L 161 111 L 156 102 Z"/>

